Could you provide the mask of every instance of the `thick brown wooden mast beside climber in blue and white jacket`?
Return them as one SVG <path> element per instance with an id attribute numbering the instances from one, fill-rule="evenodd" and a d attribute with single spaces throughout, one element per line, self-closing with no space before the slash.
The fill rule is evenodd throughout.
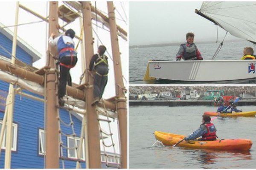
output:
<path id="1" fill-rule="evenodd" d="M 49 35 L 58 35 L 58 2 L 49 2 Z M 46 168 L 59 168 L 59 137 L 58 137 L 58 110 L 57 89 L 58 79 L 55 71 L 56 47 L 48 45 L 47 65 L 47 112 L 46 112 Z M 53 56 L 52 56 L 53 55 Z"/>

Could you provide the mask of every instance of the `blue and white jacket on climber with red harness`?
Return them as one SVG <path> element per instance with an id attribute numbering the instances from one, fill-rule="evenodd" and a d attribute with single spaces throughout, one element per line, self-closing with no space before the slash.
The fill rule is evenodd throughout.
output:
<path id="1" fill-rule="evenodd" d="M 64 39 L 67 41 L 65 43 Z M 77 53 L 75 51 L 75 45 L 71 37 L 62 35 L 57 42 L 58 47 L 58 56 L 59 59 L 61 59 L 64 56 L 77 56 Z"/>

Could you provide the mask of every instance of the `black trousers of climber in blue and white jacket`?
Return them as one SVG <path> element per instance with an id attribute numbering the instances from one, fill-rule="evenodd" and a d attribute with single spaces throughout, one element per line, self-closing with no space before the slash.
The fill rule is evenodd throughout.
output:
<path id="1" fill-rule="evenodd" d="M 72 60 L 72 61 L 71 61 Z M 70 56 L 65 56 L 60 59 L 60 62 L 65 65 L 76 65 L 77 57 L 71 59 Z M 70 75 L 70 68 L 60 65 L 60 78 L 58 85 L 58 97 L 61 98 L 66 94 L 66 85 L 72 86 L 72 78 Z"/>

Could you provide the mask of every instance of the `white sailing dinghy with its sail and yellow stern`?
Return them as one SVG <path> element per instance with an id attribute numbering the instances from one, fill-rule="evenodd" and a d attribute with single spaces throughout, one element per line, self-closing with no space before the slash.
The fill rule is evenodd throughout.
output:
<path id="1" fill-rule="evenodd" d="M 256 44 L 256 2 L 203 2 L 196 14 Z M 256 60 L 148 61 L 143 80 L 212 82 L 254 79 Z M 179 70 L 179 71 L 177 71 Z M 223 74 L 229 71 L 232 74 Z"/>

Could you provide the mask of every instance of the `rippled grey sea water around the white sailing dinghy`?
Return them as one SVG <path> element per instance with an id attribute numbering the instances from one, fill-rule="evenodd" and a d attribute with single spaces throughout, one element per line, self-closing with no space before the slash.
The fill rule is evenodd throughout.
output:
<path id="1" fill-rule="evenodd" d="M 196 42 L 195 42 L 196 43 Z M 219 46 L 218 43 L 197 44 L 204 59 L 212 59 L 213 54 Z M 244 47 L 253 47 L 248 41 L 224 42 L 215 59 L 240 59 L 243 56 Z M 130 48 L 129 49 L 129 83 L 130 84 L 191 84 L 191 82 L 178 82 L 156 80 L 151 82 L 143 81 L 143 76 L 147 68 L 148 60 L 175 60 L 180 45 L 151 48 Z M 198 82 L 199 84 L 205 84 Z M 210 82 L 207 82 L 209 84 Z M 255 84 L 256 80 L 239 80 L 229 82 L 213 82 L 213 84 Z M 195 83 L 193 83 L 195 84 Z"/>

